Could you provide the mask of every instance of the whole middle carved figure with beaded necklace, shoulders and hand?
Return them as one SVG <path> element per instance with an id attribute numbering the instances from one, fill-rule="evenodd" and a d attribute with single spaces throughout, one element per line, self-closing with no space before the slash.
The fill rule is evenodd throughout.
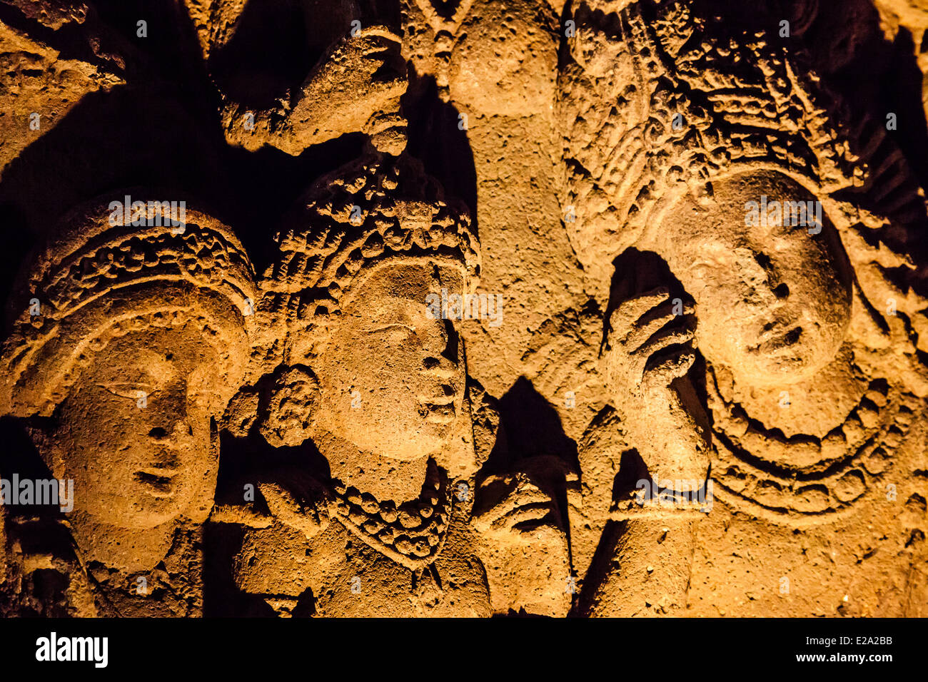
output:
<path id="1" fill-rule="evenodd" d="M 238 509 L 264 526 L 245 535 L 238 586 L 284 615 L 306 599 L 319 615 L 489 615 L 526 599 L 565 612 L 566 541 L 531 476 L 484 482 L 472 510 L 492 406 L 469 386 L 460 311 L 435 303 L 467 301 L 479 276 L 466 212 L 414 161 L 369 157 L 320 179 L 277 245 L 257 316 L 259 355 L 279 365 L 258 428 L 272 445 L 312 439 L 330 481 L 290 469 L 258 483 L 273 521 Z M 482 556 L 533 540 L 561 579 L 491 604 L 496 573 L 527 562 Z"/>

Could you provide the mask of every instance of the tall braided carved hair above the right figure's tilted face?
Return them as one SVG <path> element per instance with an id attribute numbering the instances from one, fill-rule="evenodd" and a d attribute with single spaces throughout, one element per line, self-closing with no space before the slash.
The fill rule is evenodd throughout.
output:
<path id="1" fill-rule="evenodd" d="M 892 299 L 919 315 L 924 300 L 886 277 L 911 268 L 886 239 L 896 216 L 924 217 L 917 191 L 901 208 L 866 199 L 872 187 L 907 183 L 883 127 L 850 126 L 801 51 L 787 55 L 763 32 L 733 33 L 699 6 L 641 0 L 616 11 L 586 0 L 574 10 L 577 33 L 559 88 L 561 203 L 587 272 L 608 282 L 612 260 L 660 229 L 688 193 L 700 199 L 714 180 L 775 171 L 821 200 L 866 299 L 880 308 Z"/>

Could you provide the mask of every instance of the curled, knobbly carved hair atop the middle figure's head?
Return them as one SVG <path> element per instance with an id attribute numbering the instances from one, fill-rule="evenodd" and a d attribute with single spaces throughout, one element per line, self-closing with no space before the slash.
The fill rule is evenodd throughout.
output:
<path id="1" fill-rule="evenodd" d="M 444 258 L 460 265 L 468 290 L 480 276 L 467 210 L 446 202 L 419 161 L 406 156 L 369 156 L 321 178 L 287 224 L 275 238 L 277 259 L 264 273 L 259 314 L 271 334 L 266 352 L 277 359 L 286 354 L 288 362 L 318 354 L 345 291 L 382 262 Z M 281 349 L 278 340 L 288 332 L 298 333 Z"/>

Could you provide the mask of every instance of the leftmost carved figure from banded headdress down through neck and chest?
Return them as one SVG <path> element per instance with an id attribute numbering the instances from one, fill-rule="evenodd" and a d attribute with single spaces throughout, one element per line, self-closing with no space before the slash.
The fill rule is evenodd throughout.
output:
<path id="1" fill-rule="evenodd" d="M 75 209 L 22 271 L 9 301 L 4 405 L 32 418 L 56 487 L 71 482 L 58 523 L 71 536 L 66 579 L 79 586 L 61 614 L 199 615 L 215 419 L 249 353 L 251 264 L 208 214 L 185 210 L 181 232 L 161 205 L 123 207 L 126 194 Z M 36 533 L 28 523 L 19 531 Z M 14 558 L 17 582 L 68 559 L 40 560 L 27 544 Z"/>

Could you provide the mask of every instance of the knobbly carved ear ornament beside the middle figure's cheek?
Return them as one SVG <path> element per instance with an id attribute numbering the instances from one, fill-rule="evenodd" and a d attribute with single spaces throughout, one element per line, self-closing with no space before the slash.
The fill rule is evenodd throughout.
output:
<path id="1" fill-rule="evenodd" d="M 318 403 L 319 382 L 312 369 L 278 367 L 259 426 L 264 440 L 274 447 L 303 444 L 312 436 Z"/>

